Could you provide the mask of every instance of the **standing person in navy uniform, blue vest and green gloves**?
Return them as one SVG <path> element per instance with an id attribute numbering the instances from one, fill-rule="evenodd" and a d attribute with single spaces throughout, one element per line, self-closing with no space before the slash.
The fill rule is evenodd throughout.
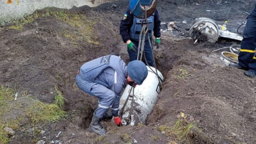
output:
<path id="1" fill-rule="evenodd" d="M 143 17 L 145 17 L 145 9 L 143 8 L 145 7 L 148 8 L 147 21 L 150 42 L 152 44 L 151 36 L 154 32 L 154 36 L 156 37 L 155 43 L 157 47 L 160 46 L 161 21 L 156 6 L 156 0 L 130 0 L 129 8 L 126 10 L 125 15 L 120 23 L 120 35 L 122 36 L 123 42 L 127 44 L 127 51 L 130 57 L 130 61 L 137 60 L 140 31 L 142 29 L 142 22 L 144 20 Z M 152 53 L 153 50 L 150 47 L 148 36 L 145 37 L 144 51 L 149 66 L 155 66 Z"/>

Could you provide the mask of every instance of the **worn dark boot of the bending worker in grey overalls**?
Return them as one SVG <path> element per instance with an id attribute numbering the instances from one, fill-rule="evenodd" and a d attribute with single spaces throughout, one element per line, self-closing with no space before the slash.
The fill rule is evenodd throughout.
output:
<path id="1" fill-rule="evenodd" d="M 99 135 L 105 135 L 107 130 L 99 122 L 99 118 L 93 114 L 92 122 L 90 123 L 89 130 Z"/>

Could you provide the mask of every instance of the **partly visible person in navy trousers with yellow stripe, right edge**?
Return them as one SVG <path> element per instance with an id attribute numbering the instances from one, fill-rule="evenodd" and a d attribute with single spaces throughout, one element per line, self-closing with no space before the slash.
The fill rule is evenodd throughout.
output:
<path id="1" fill-rule="evenodd" d="M 244 28 L 241 50 L 238 55 L 239 63 L 230 63 L 230 66 L 247 70 L 244 75 L 256 77 L 256 4 L 250 13 Z"/>

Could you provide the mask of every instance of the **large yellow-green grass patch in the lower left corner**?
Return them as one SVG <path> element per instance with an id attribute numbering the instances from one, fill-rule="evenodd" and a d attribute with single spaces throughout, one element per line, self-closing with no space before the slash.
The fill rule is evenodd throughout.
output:
<path id="1" fill-rule="evenodd" d="M 10 127 L 17 131 L 20 129 L 20 121 L 23 118 L 29 118 L 29 125 L 37 126 L 40 123 L 56 122 L 67 117 L 67 113 L 62 110 L 65 99 L 57 86 L 55 86 L 54 104 L 45 104 L 31 98 L 26 99 L 27 91 L 22 93 L 22 97 L 25 98 L 23 101 L 27 103 L 20 104 L 19 99 L 14 100 L 15 93 L 15 90 L 9 87 L 0 86 L 0 144 L 9 144 L 10 141 L 8 133 L 3 131 L 3 128 Z M 13 111 L 20 113 L 12 117 Z"/>

